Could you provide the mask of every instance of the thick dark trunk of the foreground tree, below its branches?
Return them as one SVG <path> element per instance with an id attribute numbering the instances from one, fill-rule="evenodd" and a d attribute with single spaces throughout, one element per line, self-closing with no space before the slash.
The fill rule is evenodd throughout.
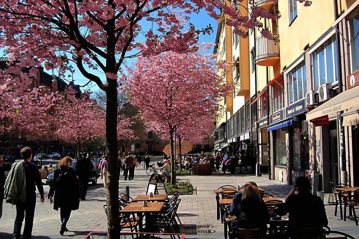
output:
<path id="1" fill-rule="evenodd" d="M 106 91 L 106 147 L 107 147 L 107 230 L 108 239 L 120 238 L 120 210 L 119 210 L 119 174 L 117 149 L 117 81 L 107 79 L 109 84 Z"/>

